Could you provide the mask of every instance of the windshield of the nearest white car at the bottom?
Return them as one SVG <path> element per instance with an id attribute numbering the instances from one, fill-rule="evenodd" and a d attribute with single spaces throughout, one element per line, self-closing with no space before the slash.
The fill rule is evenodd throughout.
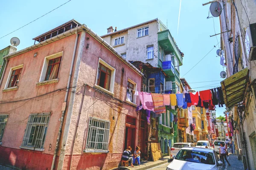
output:
<path id="1" fill-rule="evenodd" d="M 201 164 L 215 164 L 213 153 L 207 151 L 181 149 L 175 159 Z"/>

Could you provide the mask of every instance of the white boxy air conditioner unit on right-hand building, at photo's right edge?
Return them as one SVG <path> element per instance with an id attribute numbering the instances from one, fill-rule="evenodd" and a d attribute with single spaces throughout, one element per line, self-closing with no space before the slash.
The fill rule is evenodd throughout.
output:
<path id="1" fill-rule="evenodd" d="M 250 24 L 250 26 L 247 27 L 244 45 L 247 58 L 250 61 L 256 60 L 256 23 Z"/>

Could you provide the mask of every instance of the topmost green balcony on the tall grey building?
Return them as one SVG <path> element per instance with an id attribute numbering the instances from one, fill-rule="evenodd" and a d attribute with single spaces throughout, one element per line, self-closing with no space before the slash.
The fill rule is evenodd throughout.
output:
<path id="1" fill-rule="evenodd" d="M 168 53 L 174 53 L 177 59 L 179 60 L 179 65 L 182 65 L 182 57 L 180 50 L 177 48 L 177 45 L 170 33 L 169 30 L 160 31 L 158 34 L 158 42 L 161 48 Z"/>

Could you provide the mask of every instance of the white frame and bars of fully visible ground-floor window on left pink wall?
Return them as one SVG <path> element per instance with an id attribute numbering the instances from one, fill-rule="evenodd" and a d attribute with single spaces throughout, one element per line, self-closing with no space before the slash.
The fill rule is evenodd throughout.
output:
<path id="1" fill-rule="evenodd" d="M 41 118 L 41 119 L 38 119 L 38 118 Z M 42 119 L 42 118 L 45 118 L 45 119 Z M 50 113 L 30 114 L 29 118 L 28 118 L 27 125 L 26 125 L 25 133 L 23 136 L 23 142 L 22 142 L 20 148 L 44 151 L 44 143 L 45 143 L 45 139 L 46 139 L 46 135 L 47 135 L 47 127 L 49 125 L 49 120 L 50 120 Z M 34 122 L 34 121 L 36 121 L 36 122 Z M 35 145 L 33 146 L 31 143 L 29 143 L 29 138 L 31 136 L 30 133 L 31 133 L 32 127 L 35 127 L 35 129 L 36 129 L 37 126 L 38 126 L 38 131 L 41 130 L 42 133 L 41 133 L 41 137 L 38 136 L 38 134 L 40 134 L 40 133 L 37 133 L 35 143 L 37 141 L 39 141 L 40 147 L 36 147 Z M 35 131 L 34 131 L 34 134 L 35 134 Z M 34 137 L 35 136 L 33 136 L 32 141 L 34 140 Z"/>

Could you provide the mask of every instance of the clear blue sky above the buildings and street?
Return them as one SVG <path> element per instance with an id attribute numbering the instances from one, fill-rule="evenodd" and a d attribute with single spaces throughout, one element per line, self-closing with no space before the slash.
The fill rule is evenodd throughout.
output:
<path id="1" fill-rule="evenodd" d="M 35 20 L 65 2 L 67 0 L 1 1 L 0 20 L 2 26 L 0 27 L 0 37 Z M 12 37 L 20 39 L 18 50 L 31 46 L 34 44 L 32 38 L 73 18 L 87 25 L 99 35 L 106 34 L 109 26 L 117 27 L 120 30 L 158 18 L 165 25 L 168 25 L 178 47 L 184 53 L 183 65 L 180 67 L 180 77 L 182 77 L 220 41 L 219 35 L 209 37 L 214 35 L 215 32 L 216 34 L 220 33 L 220 24 L 218 17 L 207 19 L 209 5 L 202 6 L 206 2 L 209 2 L 209 0 L 182 0 L 177 34 L 180 0 L 71 0 L 39 20 L 0 39 L 0 49 L 10 45 Z M 195 90 L 207 90 L 220 86 L 220 81 L 223 80 L 220 77 L 220 72 L 223 71 L 223 68 L 219 64 L 220 58 L 216 57 L 219 46 L 220 44 L 184 76 Z M 214 80 L 220 81 L 205 82 Z M 224 108 L 218 108 L 217 106 L 216 111 L 217 116 L 223 115 Z"/>

